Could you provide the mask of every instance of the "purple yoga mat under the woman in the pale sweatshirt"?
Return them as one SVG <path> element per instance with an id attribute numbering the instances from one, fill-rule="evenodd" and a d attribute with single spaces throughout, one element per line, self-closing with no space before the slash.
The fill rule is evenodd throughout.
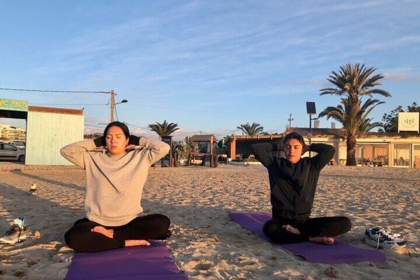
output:
<path id="1" fill-rule="evenodd" d="M 65 280 L 188 279 L 180 274 L 163 242 L 150 243 L 150 246 L 75 253 Z"/>

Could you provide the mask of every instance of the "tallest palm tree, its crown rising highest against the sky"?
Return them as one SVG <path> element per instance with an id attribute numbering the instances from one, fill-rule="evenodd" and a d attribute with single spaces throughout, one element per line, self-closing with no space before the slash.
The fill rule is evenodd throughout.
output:
<path id="1" fill-rule="evenodd" d="M 363 122 L 361 119 L 354 118 L 357 117 L 360 113 L 359 111 L 361 110 L 361 98 L 364 96 L 371 98 L 373 94 L 379 94 L 384 97 L 391 96 L 391 94 L 385 90 L 374 88 L 375 86 L 381 85 L 381 83 L 378 81 L 383 78 L 382 74 L 373 74 L 375 70 L 376 68 L 373 67 L 366 68 L 365 64 L 360 65 L 360 63 L 356 63 L 352 65 L 351 63 L 347 63 L 346 65 L 340 67 L 338 73 L 332 71 L 331 75 L 329 75 L 329 78 L 327 78 L 330 83 L 335 85 L 335 88 L 320 89 L 321 93 L 319 95 L 330 94 L 344 97 L 341 99 L 341 103 L 345 106 L 345 110 L 347 110 L 345 117 L 350 118 L 344 121 L 347 125 L 343 124 L 343 127 L 347 130 L 346 165 L 356 165 L 355 131 L 359 130 L 359 126 Z M 346 103 L 343 103 L 343 100 L 345 100 Z M 348 108 L 346 108 L 347 106 Z M 338 109 L 335 107 L 328 107 L 323 111 L 323 115 L 327 115 L 327 112 L 331 111 L 331 108 Z M 342 110 L 344 112 L 344 108 L 342 108 Z M 319 117 L 321 117 L 321 114 L 319 114 Z M 332 117 L 332 115 L 330 117 Z M 357 127 L 355 127 L 356 124 L 358 124 Z"/>

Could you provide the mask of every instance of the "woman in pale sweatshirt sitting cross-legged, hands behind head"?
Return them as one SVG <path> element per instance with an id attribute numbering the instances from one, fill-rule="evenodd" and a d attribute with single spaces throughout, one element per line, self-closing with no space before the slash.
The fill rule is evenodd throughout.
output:
<path id="1" fill-rule="evenodd" d="M 109 155 L 92 151 L 106 147 Z M 127 151 L 134 146 L 143 149 Z M 96 252 L 128 246 L 150 245 L 146 239 L 170 236 L 169 219 L 160 214 L 141 216 L 143 185 L 149 168 L 164 157 L 169 145 L 130 135 L 119 121 L 109 123 L 104 136 L 61 148 L 61 155 L 86 170 L 85 211 L 65 233 L 70 248 Z"/>

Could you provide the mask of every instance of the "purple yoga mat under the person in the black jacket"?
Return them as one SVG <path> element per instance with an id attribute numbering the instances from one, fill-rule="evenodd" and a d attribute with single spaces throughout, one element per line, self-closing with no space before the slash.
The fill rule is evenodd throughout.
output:
<path id="1" fill-rule="evenodd" d="M 229 216 L 236 223 L 270 241 L 262 233 L 262 225 L 271 219 L 271 214 L 230 213 Z M 339 240 L 335 240 L 333 245 L 322 245 L 313 242 L 276 245 L 294 255 L 303 256 L 311 263 L 353 264 L 360 262 L 384 262 L 386 260 L 385 255 L 380 251 L 358 248 Z"/>

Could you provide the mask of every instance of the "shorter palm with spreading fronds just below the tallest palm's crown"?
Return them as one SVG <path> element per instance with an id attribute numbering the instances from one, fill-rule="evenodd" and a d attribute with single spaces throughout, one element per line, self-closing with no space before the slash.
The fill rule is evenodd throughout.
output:
<path id="1" fill-rule="evenodd" d="M 368 99 L 363 105 L 359 100 L 356 106 L 352 105 L 350 97 L 341 98 L 341 104 L 337 107 L 327 107 L 320 112 L 318 117 L 326 116 L 340 122 L 347 132 L 347 166 L 356 166 L 356 138 L 366 133 L 369 128 L 377 126 L 377 123 L 370 123 L 368 115 L 373 108 L 385 102 L 377 99 Z"/>

